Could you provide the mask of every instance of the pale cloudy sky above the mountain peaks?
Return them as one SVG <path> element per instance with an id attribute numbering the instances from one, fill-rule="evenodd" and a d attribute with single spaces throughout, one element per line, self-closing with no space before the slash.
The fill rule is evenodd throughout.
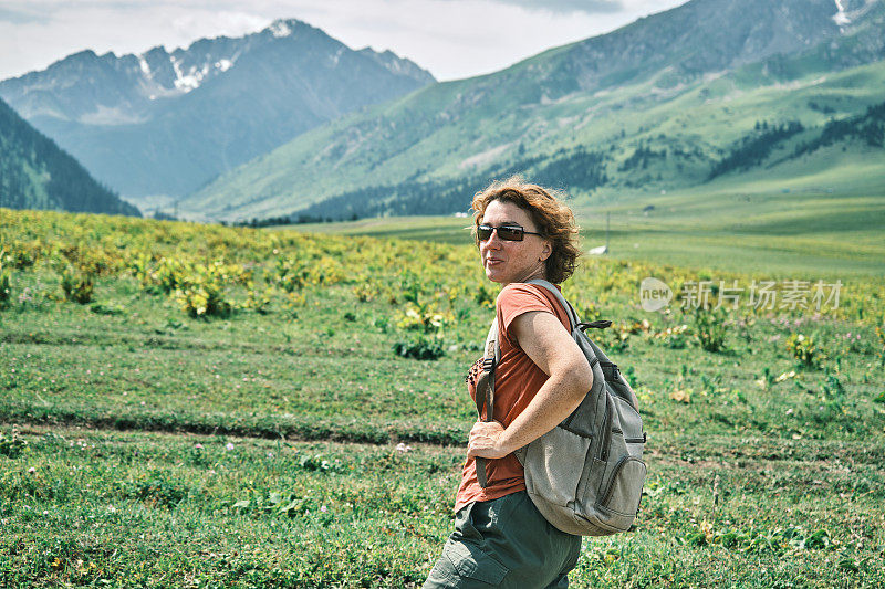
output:
<path id="1" fill-rule="evenodd" d="M 389 49 L 438 80 L 493 72 L 686 0 L 0 0 L 0 80 L 71 53 L 171 50 L 296 18 Z"/>

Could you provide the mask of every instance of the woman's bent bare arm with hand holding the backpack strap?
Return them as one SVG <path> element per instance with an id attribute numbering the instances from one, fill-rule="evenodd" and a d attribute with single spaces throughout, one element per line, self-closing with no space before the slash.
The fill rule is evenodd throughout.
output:
<path id="1" fill-rule="evenodd" d="M 569 417 L 593 385 L 584 354 L 555 315 L 522 314 L 513 319 L 511 332 L 550 378 L 507 429 L 497 421 L 477 422 L 470 431 L 468 456 L 500 459 L 537 440 Z"/>

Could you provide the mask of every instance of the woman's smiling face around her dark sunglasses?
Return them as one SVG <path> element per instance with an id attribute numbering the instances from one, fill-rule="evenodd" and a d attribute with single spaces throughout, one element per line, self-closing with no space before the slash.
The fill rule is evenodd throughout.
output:
<path id="1" fill-rule="evenodd" d="M 486 207 L 482 224 L 491 227 L 520 225 L 525 231 L 538 232 L 528 212 L 512 202 L 493 200 Z M 493 231 L 479 242 L 479 255 L 486 277 L 508 285 L 546 276 L 544 261 L 553 253 L 550 242 L 540 235 L 525 234 L 522 241 L 504 241 Z"/>

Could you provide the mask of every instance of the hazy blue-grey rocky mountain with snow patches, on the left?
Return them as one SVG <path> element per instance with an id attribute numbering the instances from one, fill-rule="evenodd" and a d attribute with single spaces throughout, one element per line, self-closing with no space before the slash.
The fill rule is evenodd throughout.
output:
<path id="1" fill-rule="evenodd" d="M 140 55 L 83 51 L 0 83 L 0 97 L 134 202 L 173 199 L 343 114 L 433 76 L 298 20 Z"/>

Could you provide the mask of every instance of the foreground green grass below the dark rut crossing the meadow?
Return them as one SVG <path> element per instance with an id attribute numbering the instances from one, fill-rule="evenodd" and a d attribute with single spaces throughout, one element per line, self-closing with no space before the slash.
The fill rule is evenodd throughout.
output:
<path id="1" fill-rule="evenodd" d="M 22 439 L 0 471 L 6 587 L 417 587 L 450 533 L 462 459 L 61 428 Z M 657 434 L 636 530 L 584 540 L 571 585 L 876 587 L 882 459 L 858 443 Z"/>

